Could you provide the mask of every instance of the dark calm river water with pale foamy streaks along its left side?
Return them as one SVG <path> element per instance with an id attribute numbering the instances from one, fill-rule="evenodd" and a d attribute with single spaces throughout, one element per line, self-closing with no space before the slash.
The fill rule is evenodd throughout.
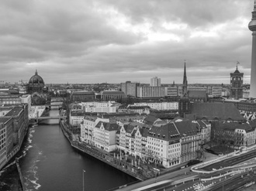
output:
<path id="1" fill-rule="evenodd" d="M 50 115 L 57 114 L 58 110 L 50 111 Z M 72 148 L 55 119 L 40 121 L 38 126 L 29 128 L 18 157 L 28 190 L 76 191 L 82 190 L 84 183 L 84 190 L 97 191 L 136 181 L 104 162 Z M 16 182 L 17 172 L 11 166 L 3 169 L 5 171 Z M 10 184 L 10 181 L 9 179 L 2 184 Z"/>

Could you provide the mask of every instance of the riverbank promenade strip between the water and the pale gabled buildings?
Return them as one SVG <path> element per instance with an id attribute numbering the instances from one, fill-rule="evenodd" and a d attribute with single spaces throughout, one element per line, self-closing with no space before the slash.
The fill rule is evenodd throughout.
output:
<path id="1" fill-rule="evenodd" d="M 123 159 L 119 159 L 107 152 L 102 152 L 99 148 L 95 148 L 92 145 L 86 145 L 85 143 L 80 143 L 72 140 L 71 131 L 67 128 L 67 124 L 64 121 L 60 121 L 61 130 L 63 131 L 65 137 L 70 142 L 73 148 L 78 149 L 81 152 L 85 152 L 88 155 L 91 155 L 95 159 L 99 159 L 102 162 L 105 162 L 112 167 L 119 169 L 126 174 L 133 176 L 134 178 L 138 179 L 138 181 L 144 181 L 146 179 L 150 179 L 154 177 L 154 174 L 148 174 L 144 176 L 141 173 L 141 169 L 136 168 L 136 166 L 130 165 L 129 162 L 126 162 Z"/>

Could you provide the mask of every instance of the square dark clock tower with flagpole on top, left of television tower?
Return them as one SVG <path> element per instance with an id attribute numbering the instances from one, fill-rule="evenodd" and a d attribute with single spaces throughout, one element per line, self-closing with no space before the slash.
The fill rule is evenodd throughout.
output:
<path id="1" fill-rule="evenodd" d="M 238 69 L 235 70 L 234 73 L 230 73 L 230 97 L 236 100 L 243 97 L 243 77 L 244 73 L 240 73 Z"/>

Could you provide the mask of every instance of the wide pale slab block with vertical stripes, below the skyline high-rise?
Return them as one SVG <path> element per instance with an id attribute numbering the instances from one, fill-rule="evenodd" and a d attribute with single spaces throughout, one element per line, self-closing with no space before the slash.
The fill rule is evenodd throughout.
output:
<path id="1" fill-rule="evenodd" d="M 137 87 L 137 97 L 164 97 L 164 87 L 161 86 L 144 86 Z"/>

